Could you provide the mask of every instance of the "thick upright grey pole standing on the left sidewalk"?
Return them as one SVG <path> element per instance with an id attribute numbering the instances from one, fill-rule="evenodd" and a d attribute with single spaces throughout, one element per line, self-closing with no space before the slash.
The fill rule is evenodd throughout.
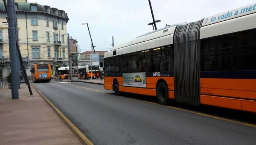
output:
<path id="1" fill-rule="evenodd" d="M 19 84 L 18 84 L 18 69 L 17 69 L 17 57 L 16 57 L 16 36 L 14 25 L 14 0 L 8 0 L 8 35 L 9 35 L 9 52 L 10 52 L 10 65 L 11 65 L 11 77 L 12 77 L 12 99 L 19 99 Z"/>

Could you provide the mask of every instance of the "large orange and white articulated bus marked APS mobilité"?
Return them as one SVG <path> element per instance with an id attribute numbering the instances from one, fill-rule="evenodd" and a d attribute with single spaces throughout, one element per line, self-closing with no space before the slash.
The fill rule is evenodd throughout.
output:
<path id="1" fill-rule="evenodd" d="M 256 4 L 141 35 L 104 54 L 104 88 L 256 113 Z"/>

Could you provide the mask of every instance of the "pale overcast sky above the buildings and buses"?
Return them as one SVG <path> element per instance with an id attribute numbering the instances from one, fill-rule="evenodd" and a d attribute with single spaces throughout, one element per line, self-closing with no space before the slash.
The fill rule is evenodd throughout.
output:
<path id="1" fill-rule="evenodd" d="M 88 23 L 95 51 L 109 50 L 114 44 L 129 41 L 152 31 L 148 0 L 28 0 L 56 7 L 68 13 L 69 35 L 83 51 L 91 51 Z M 198 21 L 204 17 L 255 3 L 255 0 L 151 0 L 157 28 L 165 24 Z"/>

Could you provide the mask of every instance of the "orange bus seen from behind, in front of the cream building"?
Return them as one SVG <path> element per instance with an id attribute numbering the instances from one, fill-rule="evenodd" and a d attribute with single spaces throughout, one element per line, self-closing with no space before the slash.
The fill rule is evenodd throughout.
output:
<path id="1" fill-rule="evenodd" d="M 31 76 L 33 82 L 45 81 L 50 82 L 52 79 L 52 71 L 50 63 L 31 65 Z"/>

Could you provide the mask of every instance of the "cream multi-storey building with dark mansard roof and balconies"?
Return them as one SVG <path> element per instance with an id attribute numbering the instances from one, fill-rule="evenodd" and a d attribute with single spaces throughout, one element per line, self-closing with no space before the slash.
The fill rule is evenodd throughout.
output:
<path id="1" fill-rule="evenodd" d="M 15 0 L 20 52 L 30 76 L 33 63 L 50 63 L 55 68 L 68 66 L 68 15 L 63 10 L 26 0 Z M 7 14 L 0 1 L 0 64 L 3 76 L 10 70 Z M 6 24 L 6 25 L 3 25 Z"/>

